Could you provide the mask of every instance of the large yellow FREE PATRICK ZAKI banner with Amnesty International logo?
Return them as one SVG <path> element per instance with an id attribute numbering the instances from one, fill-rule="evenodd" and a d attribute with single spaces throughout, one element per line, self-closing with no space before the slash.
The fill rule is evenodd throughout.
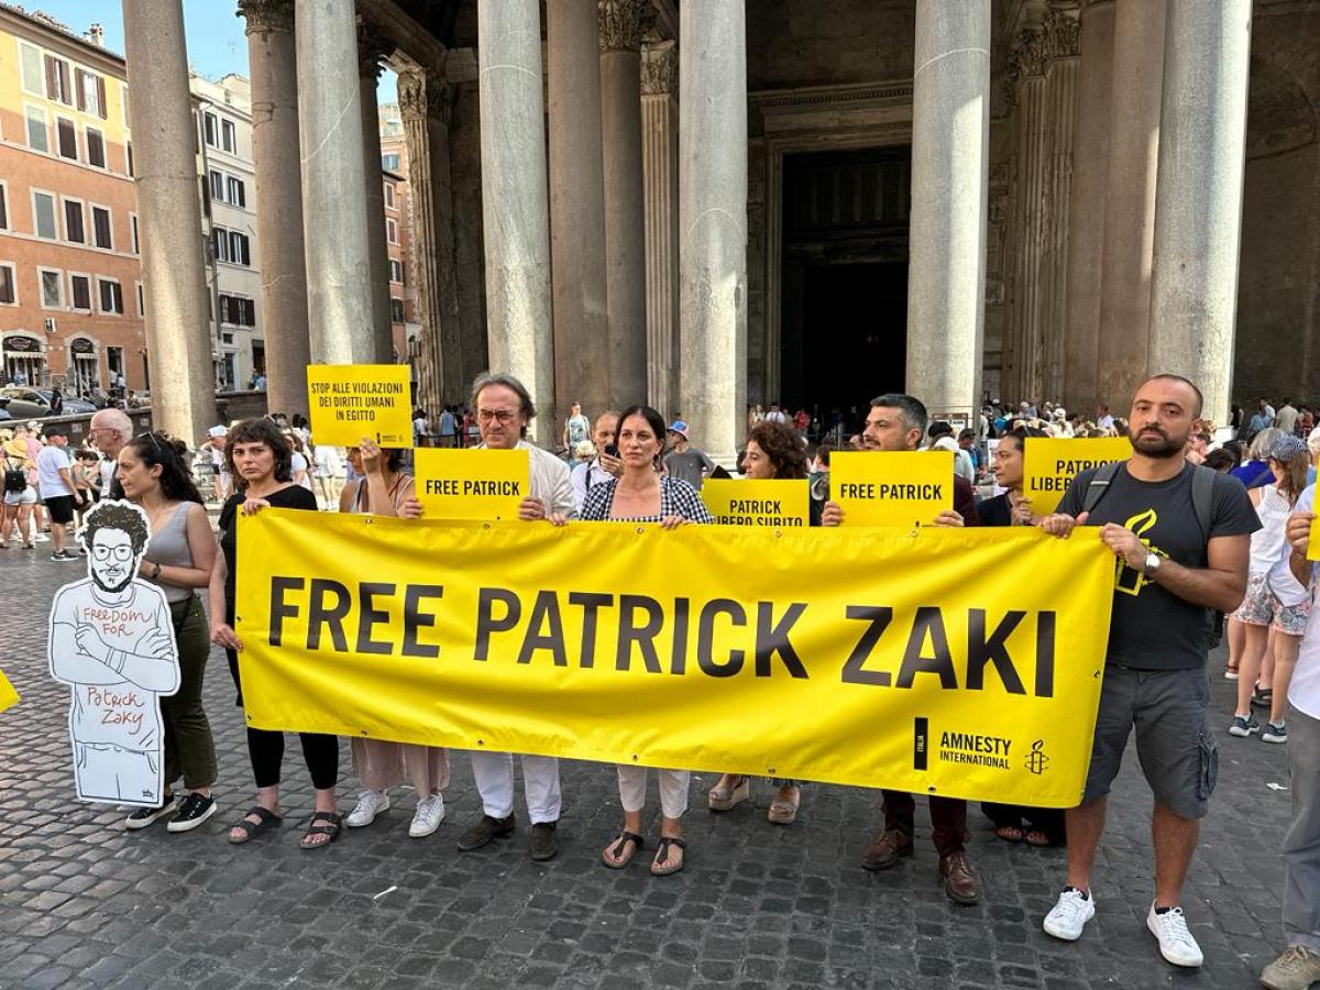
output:
<path id="1" fill-rule="evenodd" d="M 248 725 L 1069 807 L 1097 531 L 239 521 Z M 1067 587 L 1067 594 L 1057 589 Z"/>

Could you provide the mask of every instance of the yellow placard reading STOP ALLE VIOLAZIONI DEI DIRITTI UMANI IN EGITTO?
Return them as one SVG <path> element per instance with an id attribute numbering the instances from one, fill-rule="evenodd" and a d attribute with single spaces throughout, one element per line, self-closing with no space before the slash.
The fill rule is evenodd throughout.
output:
<path id="1" fill-rule="evenodd" d="M 383 447 L 412 446 L 407 364 L 308 364 L 312 437 L 333 447 L 363 437 Z"/>

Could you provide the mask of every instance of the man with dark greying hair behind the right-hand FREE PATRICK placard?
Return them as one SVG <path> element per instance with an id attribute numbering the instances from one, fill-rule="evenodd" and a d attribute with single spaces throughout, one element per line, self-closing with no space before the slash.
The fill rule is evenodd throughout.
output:
<path id="1" fill-rule="evenodd" d="M 927 412 L 920 400 L 909 395 L 882 395 L 871 400 L 862 432 L 863 450 L 916 450 L 925 436 Z M 838 525 L 843 510 L 837 502 L 826 502 L 821 512 L 821 525 Z M 975 492 L 966 478 L 953 477 L 953 508 L 945 510 L 935 525 L 975 525 Z M 912 830 L 916 803 L 903 791 L 882 791 L 884 795 L 884 828 L 862 857 L 867 870 L 888 870 L 903 857 L 912 855 Z M 960 797 L 927 799 L 931 805 L 931 829 L 935 849 L 940 854 L 940 875 L 944 892 L 957 904 L 975 904 L 981 899 L 977 875 L 968 861 L 968 803 Z"/>

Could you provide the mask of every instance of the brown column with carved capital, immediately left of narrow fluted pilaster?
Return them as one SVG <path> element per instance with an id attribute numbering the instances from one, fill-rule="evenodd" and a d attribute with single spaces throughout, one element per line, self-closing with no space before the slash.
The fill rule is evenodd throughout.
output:
<path id="1" fill-rule="evenodd" d="M 649 5 L 649 4 L 645 4 Z M 642 193 L 642 0 L 601 0 L 605 140 L 605 276 L 610 399 L 647 395 L 647 242 Z"/>

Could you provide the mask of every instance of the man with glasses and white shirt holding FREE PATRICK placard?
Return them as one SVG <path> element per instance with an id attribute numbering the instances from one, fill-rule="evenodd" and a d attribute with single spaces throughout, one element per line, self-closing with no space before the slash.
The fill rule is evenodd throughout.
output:
<path id="1" fill-rule="evenodd" d="M 512 375 L 484 374 L 473 383 L 473 408 L 480 430 L 478 449 L 525 450 L 531 459 L 532 492 L 523 499 L 517 516 L 523 521 L 549 520 L 562 525 L 577 516 L 569 469 L 548 450 L 527 442 L 527 425 L 536 416 L 532 396 Z M 409 500 L 409 510 L 413 500 Z M 420 513 L 421 507 L 416 506 Z M 473 751 L 473 776 L 482 796 L 482 817 L 458 840 L 458 849 L 470 853 L 496 838 L 513 834 L 513 756 L 508 752 Z M 523 755 L 523 791 L 532 821 L 529 854 L 544 862 L 560 851 L 558 826 L 562 797 L 560 762 L 553 756 Z"/>

